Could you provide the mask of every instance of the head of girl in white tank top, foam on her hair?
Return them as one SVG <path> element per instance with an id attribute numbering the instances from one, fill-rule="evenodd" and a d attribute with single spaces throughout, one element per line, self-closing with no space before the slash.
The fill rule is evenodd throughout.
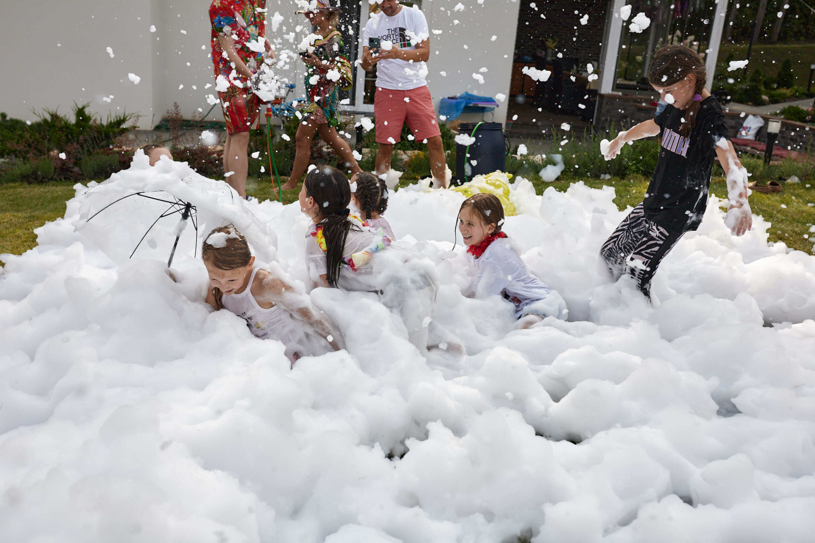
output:
<path id="1" fill-rule="evenodd" d="M 209 286 L 213 289 L 218 309 L 222 309 L 222 296 L 230 296 L 249 279 L 254 265 L 254 256 L 249 250 L 244 234 L 235 226 L 219 226 L 209 232 L 201 246 Z"/>

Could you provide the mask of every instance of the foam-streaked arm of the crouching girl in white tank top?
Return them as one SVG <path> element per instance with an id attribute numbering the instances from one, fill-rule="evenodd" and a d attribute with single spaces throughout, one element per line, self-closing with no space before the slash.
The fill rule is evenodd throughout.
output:
<path id="1" fill-rule="evenodd" d="M 294 317 L 311 325 L 319 335 L 328 340 L 335 351 L 344 348 L 340 333 L 334 328 L 325 313 L 311 304 L 311 298 L 307 294 L 297 291 L 293 285 L 274 274 L 265 275 L 266 277 L 261 279 L 258 291 L 252 289 L 252 296 L 258 301 L 258 304 L 280 305 Z"/>

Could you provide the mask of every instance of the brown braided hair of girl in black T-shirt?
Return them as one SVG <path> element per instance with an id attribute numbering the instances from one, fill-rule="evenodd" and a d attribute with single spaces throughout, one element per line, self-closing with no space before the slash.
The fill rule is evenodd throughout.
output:
<path id="1" fill-rule="evenodd" d="M 696 51 L 685 46 L 663 46 L 654 52 L 648 68 L 648 82 L 658 87 L 676 85 L 690 74 L 696 77 L 694 94 L 702 94 L 707 82 L 705 62 Z M 663 81 L 664 79 L 664 81 Z M 688 138 L 696 125 L 700 103 L 693 100 L 684 111 L 685 122 L 679 129 L 683 138 Z"/>

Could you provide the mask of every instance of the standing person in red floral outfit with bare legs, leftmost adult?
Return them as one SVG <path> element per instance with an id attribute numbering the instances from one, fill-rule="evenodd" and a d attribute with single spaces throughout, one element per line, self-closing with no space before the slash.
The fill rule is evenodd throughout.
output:
<path id="1" fill-rule="evenodd" d="M 264 59 L 275 58 L 266 39 L 266 0 L 213 0 L 209 20 L 215 90 L 227 121 L 223 173 L 245 198 L 249 129 L 260 112 L 260 99 L 249 81 Z"/>

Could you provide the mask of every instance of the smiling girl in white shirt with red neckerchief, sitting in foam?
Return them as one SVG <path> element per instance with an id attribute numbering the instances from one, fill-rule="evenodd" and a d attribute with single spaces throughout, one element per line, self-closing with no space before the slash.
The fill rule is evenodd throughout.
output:
<path id="1" fill-rule="evenodd" d="M 496 195 L 479 193 L 461 204 L 459 231 L 476 274 L 469 296 L 503 296 L 515 306 L 516 328 L 528 328 L 545 317 L 566 320 L 566 302 L 536 278 L 521 259 L 507 234 L 504 207 Z"/>

